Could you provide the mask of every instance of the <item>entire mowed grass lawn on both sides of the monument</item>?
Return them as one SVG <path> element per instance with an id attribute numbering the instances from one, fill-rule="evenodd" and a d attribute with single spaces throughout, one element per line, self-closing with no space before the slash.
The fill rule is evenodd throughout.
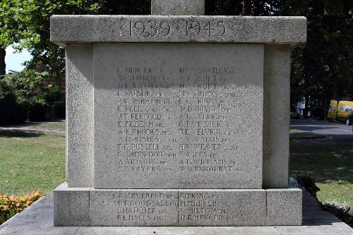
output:
<path id="1" fill-rule="evenodd" d="M 65 123 L 56 125 L 63 128 Z M 292 140 L 290 152 L 290 176 L 311 176 L 321 188 L 318 198 L 325 202 L 353 205 L 353 143 Z M 2 132 L 0 162 L 0 193 L 50 192 L 65 179 L 65 137 Z"/>

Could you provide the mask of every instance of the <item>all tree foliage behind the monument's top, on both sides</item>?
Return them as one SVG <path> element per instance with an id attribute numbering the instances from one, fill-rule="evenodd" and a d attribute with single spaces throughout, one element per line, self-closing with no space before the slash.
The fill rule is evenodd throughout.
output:
<path id="1" fill-rule="evenodd" d="M 330 97 L 353 97 L 352 5 L 352 0 L 205 0 L 205 13 L 306 16 L 308 42 L 292 56 L 292 102 L 305 97 L 325 104 Z M 49 40 L 50 16 L 149 13 L 150 0 L 2 0 L 0 47 L 18 43 L 16 49 L 32 54 L 30 64 L 49 65 L 47 72 L 57 75 L 64 68 L 64 50 Z"/>

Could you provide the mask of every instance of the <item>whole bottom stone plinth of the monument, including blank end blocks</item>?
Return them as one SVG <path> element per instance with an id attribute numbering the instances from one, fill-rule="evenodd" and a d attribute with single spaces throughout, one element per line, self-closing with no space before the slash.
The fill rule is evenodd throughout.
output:
<path id="1" fill-rule="evenodd" d="M 54 190 L 55 226 L 301 225 L 299 188 Z"/>

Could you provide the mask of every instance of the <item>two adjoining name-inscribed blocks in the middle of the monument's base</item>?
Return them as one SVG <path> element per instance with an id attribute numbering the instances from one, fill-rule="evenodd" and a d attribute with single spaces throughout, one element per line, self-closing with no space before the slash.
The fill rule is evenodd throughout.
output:
<path id="1" fill-rule="evenodd" d="M 93 226 L 258 226 L 265 215 L 261 189 L 90 191 Z"/>

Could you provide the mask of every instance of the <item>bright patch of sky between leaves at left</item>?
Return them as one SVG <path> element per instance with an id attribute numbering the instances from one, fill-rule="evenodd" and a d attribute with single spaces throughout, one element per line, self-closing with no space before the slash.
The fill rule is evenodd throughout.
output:
<path id="1" fill-rule="evenodd" d="M 15 50 L 9 46 L 6 48 L 6 56 L 5 56 L 5 63 L 6 63 L 6 73 L 8 71 L 22 71 L 25 66 L 23 66 L 24 61 L 28 61 L 32 58 L 30 53 L 27 50 L 23 50 L 21 53 L 15 53 Z"/>

